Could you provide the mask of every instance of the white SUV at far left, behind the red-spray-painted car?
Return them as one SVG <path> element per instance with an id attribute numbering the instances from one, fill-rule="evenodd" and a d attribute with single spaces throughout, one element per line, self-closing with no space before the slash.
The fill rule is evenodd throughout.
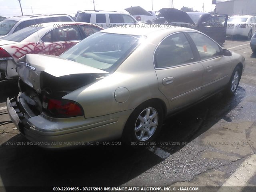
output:
<path id="1" fill-rule="evenodd" d="M 28 26 L 60 21 L 74 21 L 74 19 L 67 14 L 27 15 L 7 18 L 0 22 L 0 38 Z"/>

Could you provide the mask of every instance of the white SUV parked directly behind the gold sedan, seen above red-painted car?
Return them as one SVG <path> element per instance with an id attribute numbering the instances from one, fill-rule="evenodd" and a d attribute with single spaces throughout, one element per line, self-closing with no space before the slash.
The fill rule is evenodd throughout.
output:
<path id="1" fill-rule="evenodd" d="M 116 11 L 80 11 L 76 17 L 78 22 L 96 24 L 102 28 L 110 28 L 125 24 L 137 24 L 137 21 L 128 13 Z"/>

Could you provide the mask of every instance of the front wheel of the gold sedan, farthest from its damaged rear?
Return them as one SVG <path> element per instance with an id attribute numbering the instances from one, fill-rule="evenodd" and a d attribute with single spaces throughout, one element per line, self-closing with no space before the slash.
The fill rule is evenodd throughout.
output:
<path id="1" fill-rule="evenodd" d="M 238 85 L 241 79 L 241 74 L 242 74 L 241 68 L 236 66 L 236 68 L 232 73 L 230 81 L 228 82 L 228 86 L 226 88 L 226 94 L 228 96 L 232 96 L 236 93 L 236 90 L 238 88 Z"/>

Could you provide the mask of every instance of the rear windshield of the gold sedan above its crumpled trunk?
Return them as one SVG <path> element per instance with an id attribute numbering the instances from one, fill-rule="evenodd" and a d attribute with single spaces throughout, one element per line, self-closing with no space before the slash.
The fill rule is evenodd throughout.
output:
<path id="1" fill-rule="evenodd" d="M 96 32 L 60 57 L 107 72 L 114 72 L 138 46 L 141 36 Z"/>

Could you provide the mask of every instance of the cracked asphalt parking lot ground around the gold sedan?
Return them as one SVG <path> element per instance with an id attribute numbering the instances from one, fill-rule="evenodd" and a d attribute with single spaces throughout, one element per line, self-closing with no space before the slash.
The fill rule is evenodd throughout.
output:
<path id="1" fill-rule="evenodd" d="M 246 58 L 235 96 L 220 92 L 168 118 L 150 148 L 29 144 L 6 111 L 17 83 L 0 81 L 0 186 L 256 186 L 256 55 L 242 38 L 223 48 Z"/>

